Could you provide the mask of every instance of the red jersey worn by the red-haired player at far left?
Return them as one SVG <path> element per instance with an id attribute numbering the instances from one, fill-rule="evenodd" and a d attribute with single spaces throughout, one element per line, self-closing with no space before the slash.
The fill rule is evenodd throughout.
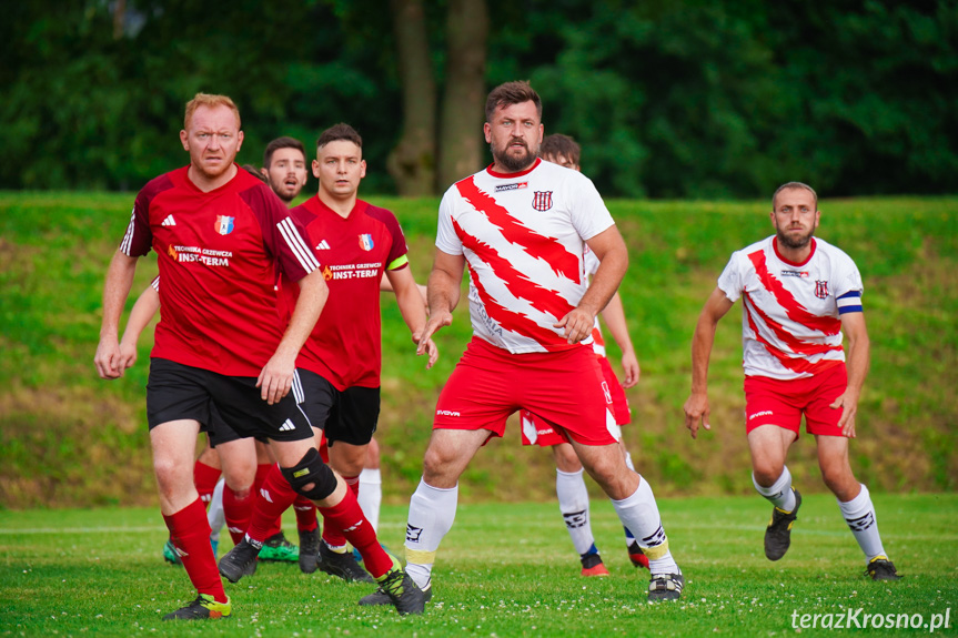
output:
<path id="1" fill-rule="evenodd" d="M 239 166 L 238 166 L 239 169 Z M 229 376 L 258 376 L 283 334 L 276 270 L 299 281 L 319 267 L 283 203 L 238 170 L 204 193 L 189 166 L 149 182 L 120 250 L 152 247 L 163 285 L 151 356 Z"/>

